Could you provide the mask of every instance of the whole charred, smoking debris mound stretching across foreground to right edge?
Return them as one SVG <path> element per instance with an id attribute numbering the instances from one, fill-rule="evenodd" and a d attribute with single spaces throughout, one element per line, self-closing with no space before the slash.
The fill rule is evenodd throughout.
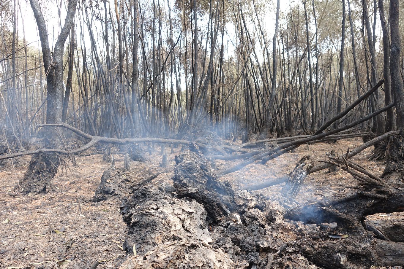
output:
<path id="1" fill-rule="evenodd" d="M 289 177 L 295 177 L 293 173 Z M 172 179 L 173 185 L 146 183 L 130 188 L 130 195 L 122 199 L 128 259 L 120 269 L 342 269 L 404 264 L 404 243 L 381 238 L 380 225 L 365 221 L 368 211 L 351 212 L 355 200 L 379 208 L 388 204 L 385 196 L 361 196 L 353 190 L 346 197 L 290 209 L 290 198 L 264 197 L 217 180 L 197 148 L 175 157 Z M 402 192 L 391 193 L 394 201 L 402 199 Z"/>

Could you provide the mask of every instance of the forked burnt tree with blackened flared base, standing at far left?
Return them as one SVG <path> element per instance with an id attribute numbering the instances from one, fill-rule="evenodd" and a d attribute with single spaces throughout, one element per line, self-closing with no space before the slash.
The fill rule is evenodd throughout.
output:
<path id="1" fill-rule="evenodd" d="M 72 29 L 77 0 L 69 0 L 67 15 L 53 51 L 49 46 L 46 22 L 38 0 L 29 1 L 34 11 L 38 25 L 38 32 L 42 46 L 42 59 L 46 75 L 46 123 L 61 123 L 63 110 L 63 52 L 66 39 Z M 55 147 L 59 144 L 55 128 L 46 128 L 42 131 L 46 147 Z M 36 154 L 32 156 L 29 167 L 20 181 L 20 188 L 25 193 L 39 193 L 51 187 L 50 181 L 55 177 L 60 165 L 59 156 L 55 153 Z"/>

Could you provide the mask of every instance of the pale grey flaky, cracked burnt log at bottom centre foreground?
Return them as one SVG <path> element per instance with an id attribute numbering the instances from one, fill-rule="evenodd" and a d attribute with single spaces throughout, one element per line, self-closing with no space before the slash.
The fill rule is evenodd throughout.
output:
<path id="1" fill-rule="evenodd" d="M 129 232 L 124 250 L 130 256 L 121 269 L 189 268 L 198 265 L 208 268 L 231 268 L 230 256 L 213 248 L 212 236 L 204 206 L 195 200 L 184 200 L 172 193 L 155 188 L 141 188 L 121 207 Z"/>

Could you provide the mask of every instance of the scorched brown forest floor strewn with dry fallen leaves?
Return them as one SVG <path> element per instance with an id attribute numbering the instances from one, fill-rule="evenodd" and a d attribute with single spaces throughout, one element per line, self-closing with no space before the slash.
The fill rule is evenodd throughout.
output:
<path id="1" fill-rule="evenodd" d="M 259 184 L 269 179 L 284 177 L 295 167 L 304 155 L 310 155 L 317 161 L 326 158 L 325 152 L 332 149 L 346 151 L 362 143 L 361 139 L 340 140 L 336 144 L 318 143 L 303 145 L 295 152 L 289 152 L 269 161 L 266 165 L 254 163 L 235 173 L 225 175 L 220 180 L 245 188 L 250 184 Z M 237 144 L 237 143 L 234 143 Z M 146 154 L 146 162 L 133 162 L 132 175 L 141 180 L 151 173 L 162 171 L 160 147 L 153 154 Z M 114 150 L 113 150 L 114 152 Z M 170 152 L 170 150 L 167 150 Z M 175 155 L 183 152 L 174 148 L 168 154 L 168 167 L 147 186 L 172 188 Z M 351 158 L 377 175 L 384 169 L 383 161 L 368 161 L 371 148 Z M 117 168 L 123 167 L 123 156 L 115 155 Z M 117 196 L 103 198 L 94 202 L 94 194 L 99 187 L 101 176 L 110 168 L 102 160 L 102 155 L 77 156 L 78 166 L 57 173 L 51 181 L 57 191 L 47 194 L 27 196 L 18 188 L 30 157 L 16 158 L 0 164 L 0 268 L 89 268 L 94 261 L 103 261 L 97 268 L 116 268 L 126 258 L 124 240 L 128 234 L 126 223 L 120 215 L 121 200 Z M 228 168 L 237 161 L 216 161 L 218 169 Z M 354 180 L 343 171 L 326 173 L 326 170 L 308 175 L 296 197 L 289 206 L 317 201 L 338 192 L 344 192 L 345 186 Z M 266 197 L 279 197 L 282 186 L 272 186 L 255 191 Z M 125 194 L 123 194 L 125 195 Z M 402 220 L 402 213 L 377 214 L 370 220 Z M 1 223 L 4 222 L 4 223 Z M 283 225 L 284 226 L 284 225 Z M 282 227 L 283 227 L 282 226 Z M 285 228 L 285 227 L 284 227 Z M 286 227 L 287 228 L 287 227 Z M 293 239 L 287 229 L 279 229 L 277 237 L 286 241 Z M 276 231 L 274 231 L 276 232 Z M 290 238 L 288 238 L 290 237 Z M 317 268 L 303 256 L 282 256 L 283 264 L 300 265 L 301 268 Z M 289 259 L 289 260 L 288 260 Z M 59 262 L 58 262 L 59 261 Z M 293 268 L 293 267 L 292 267 Z"/>

